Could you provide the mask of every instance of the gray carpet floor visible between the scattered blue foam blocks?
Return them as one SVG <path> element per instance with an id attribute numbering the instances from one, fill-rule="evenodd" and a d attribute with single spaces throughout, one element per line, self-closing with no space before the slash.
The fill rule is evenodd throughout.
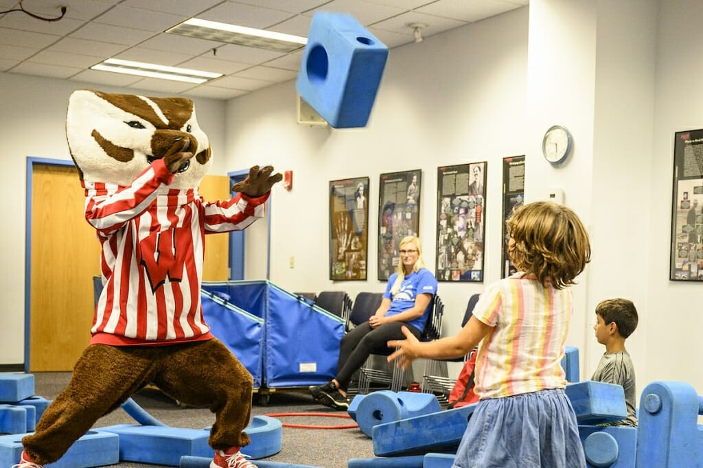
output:
<path id="1" fill-rule="evenodd" d="M 70 380 L 70 372 L 35 372 L 35 393 L 49 400 L 56 398 Z M 203 429 L 212 426 L 214 415 L 207 409 L 181 408 L 176 402 L 155 389 L 144 389 L 134 396 L 142 408 L 157 420 L 172 426 Z M 267 405 L 261 405 L 254 396 L 252 416 L 281 412 L 334 412 L 315 403 L 307 390 L 279 391 L 271 394 Z M 344 415 L 345 412 L 335 414 Z M 354 424 L 352 420 L 332 417 L 280 417 L 281 422 L 309 425 Z M 94 427 L 112 424 L 134 424 L 124 410 L 116 410 L 102 417 Z M 243 450 L 246 453 L 246 450 Z M 357 429 L 301 429 L 283 427 L 283 448 L 276 455 L 262 460 L 310 464 L 325 468 L 347 468 L 351 458 L 373 457 L 373 443 Z M 256 462 L 254 461 L 254 464 Z M 162 468 L 160 465 L 122 462 L 109 468 Z"/>

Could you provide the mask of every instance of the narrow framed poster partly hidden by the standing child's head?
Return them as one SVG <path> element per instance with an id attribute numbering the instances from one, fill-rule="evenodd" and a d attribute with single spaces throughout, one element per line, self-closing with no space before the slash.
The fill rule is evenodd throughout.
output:
<path id="1" fill-rule="evenodd" d="M 525 197 L 525 157 L 510 156 L 503 158 L 503 248 L 501 250 L 501 278 L 508 278 L 517 273 L 517 268 L 508 258 L 508 228 L 505 221 L 512 216 L 517 207 L 524 203 Z"/>

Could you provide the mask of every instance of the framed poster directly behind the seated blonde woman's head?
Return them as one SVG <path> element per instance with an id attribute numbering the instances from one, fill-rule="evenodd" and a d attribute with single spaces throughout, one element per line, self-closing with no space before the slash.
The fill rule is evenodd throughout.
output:
<path id="1" fill-rule="evenodd" d="M 378 280 L 390 278 L 398 266 L 398 245 L 420 229 L 422 171 L 380 175 L 378 187 Z"/>

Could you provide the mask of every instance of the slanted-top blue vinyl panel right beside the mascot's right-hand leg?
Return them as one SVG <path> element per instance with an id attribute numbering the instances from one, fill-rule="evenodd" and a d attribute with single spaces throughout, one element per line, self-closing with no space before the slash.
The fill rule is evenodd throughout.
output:
<path id="1" fill-rule="evenodd" d="M 214 334 L 254 378 L 254 389 L 262 384 L 264 319 L 239 308 L 216 292 L 202 290 L 202 315 Z"/>

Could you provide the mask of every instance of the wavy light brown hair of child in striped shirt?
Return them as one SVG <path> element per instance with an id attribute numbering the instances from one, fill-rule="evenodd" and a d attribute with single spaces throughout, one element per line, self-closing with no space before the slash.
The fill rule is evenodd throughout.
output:
<path id="1" fill-rule="evenodd" d="M 562 204 L 534 202 L 515 210 L 506 221 L 510 260 L 519 271 L 533 273 L 543 286 L 560 290 L 591 261 L 588 231 L 579 216 Z"/>

